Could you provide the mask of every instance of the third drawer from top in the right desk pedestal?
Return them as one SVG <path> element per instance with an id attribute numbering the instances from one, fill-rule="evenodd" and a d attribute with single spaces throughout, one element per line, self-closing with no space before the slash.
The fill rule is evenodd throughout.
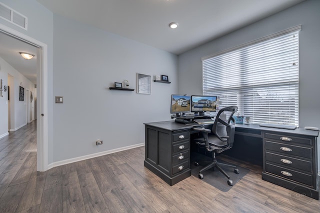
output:
<path id="1" fill-rule="evenodd" d="M 265 160 L 281 164 L 292 169 L 300 169 L 307 172 L 312 172 L 312 162 L 309 160 L 301 160 L 270 152 L 265 152 Z"/>

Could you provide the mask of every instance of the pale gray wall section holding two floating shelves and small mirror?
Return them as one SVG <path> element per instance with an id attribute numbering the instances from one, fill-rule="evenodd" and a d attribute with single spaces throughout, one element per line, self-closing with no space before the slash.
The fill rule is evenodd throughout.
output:
<path id="1" fill-rule="evenodd" d="M 176 55 L 58 15 L 53 29 L 53 95 L 63 96 L 53 104 L 54 161 L 144 143 L 143 122 L 171 119 Z M 137 72 L 152 76 L 150 95 L 136 93 Z M 134 91 L 108 88 L 124 79 Z"/>

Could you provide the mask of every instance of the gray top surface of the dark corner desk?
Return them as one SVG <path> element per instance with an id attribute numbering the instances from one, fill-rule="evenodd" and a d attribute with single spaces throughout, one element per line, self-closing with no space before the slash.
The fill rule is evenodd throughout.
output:
<path id="1" fill-rule="evenodd" d="M 176 130 L 185 130 L 185 129 L 191 129 L 194 126 L 186 125 L 184 123 L 178 123 L 174 122 L 174 120 L 168 120 L 168 121 L 159 121 L 159 122 L 148 122 L 143 123 L 147 124 L 149 126 L 159 127 L 163 129 L 167 129 L 170 131 L 176 131 Z M 294 130 L 291 129 L 283 129 L 283 128 L 271 128 L 271 127 L 262 127 L 258 124 L 235 124 L 235 131 L 241 131 L 241 130 L 257 130 L 257 131 L 273 131 L 273 132 L 282 132 L 282 133 L 293 133 L 293 134 L 301 134 L 301 135 L 309 135 L 309 136 L 315 136 L 317 137 L 319 135 L 319 130 L 308 130 L 304 128 L 296 128 Z"/>

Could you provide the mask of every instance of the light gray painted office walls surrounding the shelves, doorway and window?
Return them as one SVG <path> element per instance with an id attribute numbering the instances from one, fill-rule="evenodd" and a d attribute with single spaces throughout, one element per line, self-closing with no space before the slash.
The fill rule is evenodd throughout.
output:
<path id="1" fill-rule="evenodd" d="M 143 122 L 169 120 L 171 93 L 201 94 L 202 56 L 302 24 L 300 31 L 300 126 L 319 125 L 320 1 L 307 0 L 178 57 L 118 35 L 53 15 L 36 0 L 1 0 L 28 17 L 25 31 L 48 45 L 48 163 L 144 142 Z M 169 76 L 152 81 L 151 95 L 109 90 L 136 72 Z M 179 86 L 178 86 L 179 85 Z M 53 103 L 54 96 L 64 103 Z M 103 145 L 94 141 L 102 139 Z"/>

